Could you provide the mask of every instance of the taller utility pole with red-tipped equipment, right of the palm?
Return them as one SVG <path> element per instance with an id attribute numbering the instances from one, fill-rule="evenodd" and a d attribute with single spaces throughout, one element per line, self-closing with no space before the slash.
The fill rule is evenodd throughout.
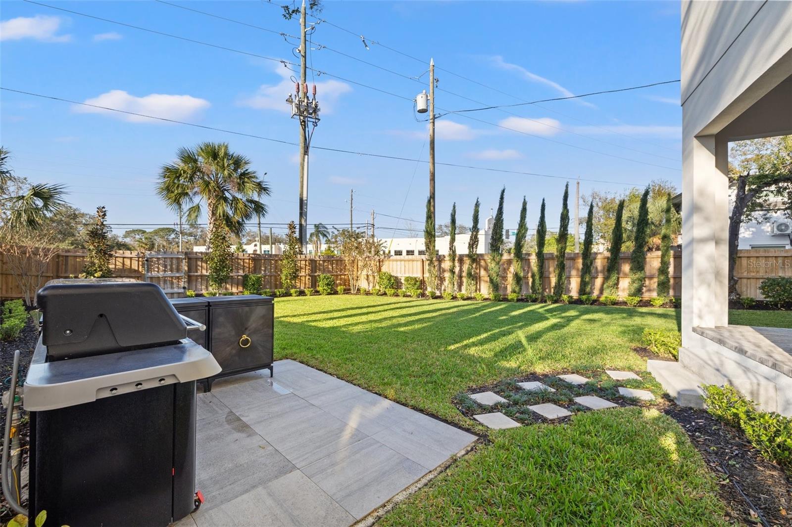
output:
<path id="1" fill-rule="evenodd" d="M 291 118 L 299 119 L 299 243 L 303 251 L 308 247 L 308 152 L 310 138 L 313 131 L 308 131 L 308 125 L 314 128 L 319 123 L 319 104 L 316 100 L 316 85 L 314 84 L 313 97 L 308 97 L 307 82 L 307 43 L 306 43 L 306 7 L 300 10 L 300 80 L 295 86 L 295 94 L 287 97 L 287 104 L 291 104 Z"/>

